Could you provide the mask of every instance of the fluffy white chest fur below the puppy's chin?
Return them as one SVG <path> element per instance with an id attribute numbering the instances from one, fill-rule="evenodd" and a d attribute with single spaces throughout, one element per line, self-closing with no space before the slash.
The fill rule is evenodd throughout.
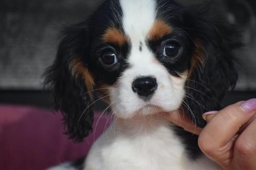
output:
<path id="1" fill-rule="evenodd" d="M 185 147 L 159 117 L 120 120 L 95 142 L 85 170 L 220 169 L 205 156 L 191 161 Z"/>

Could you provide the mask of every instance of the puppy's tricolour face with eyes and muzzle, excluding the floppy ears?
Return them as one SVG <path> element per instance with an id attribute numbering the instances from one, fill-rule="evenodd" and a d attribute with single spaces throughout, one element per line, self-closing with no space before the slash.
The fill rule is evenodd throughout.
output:
<path id="1" fill-rule="evenodd" d="M 93 62 L 96 84 L 109 88 L 114 114 L 129 118 L 178 109 L 195 47 L 191 37 L 178 29 L 177 18 L 158 11 L 159 2 L 123 0 L 109 8 L 115 17 L 106 17 L 96 33 L 88 65 Z"/>

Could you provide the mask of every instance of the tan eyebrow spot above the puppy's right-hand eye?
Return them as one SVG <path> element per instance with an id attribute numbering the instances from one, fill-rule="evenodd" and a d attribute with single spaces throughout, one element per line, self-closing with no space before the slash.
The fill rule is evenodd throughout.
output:
<path id="1" fill-rule="evenodd" d="M 148 38 L 149 40 L 158 40 L 171 32 L 172 28 L 166 22 L 161 19 L 157 19 L 148 34 Z"/>

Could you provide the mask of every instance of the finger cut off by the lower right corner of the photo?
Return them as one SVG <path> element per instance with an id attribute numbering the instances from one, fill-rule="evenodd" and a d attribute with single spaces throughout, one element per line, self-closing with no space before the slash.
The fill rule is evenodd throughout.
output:
<path id="1" fill-rule="evenodd" d="M 233 165 L 237 169 L 256 169 L 256 119 L 247 126 L 235 142 Z"/>

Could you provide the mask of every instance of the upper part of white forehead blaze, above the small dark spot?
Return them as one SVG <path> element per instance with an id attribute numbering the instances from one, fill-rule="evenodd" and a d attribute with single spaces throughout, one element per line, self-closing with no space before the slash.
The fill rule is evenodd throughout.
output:
<path id="1" fill-rule="evenodd" d="M 155 0 L 120 0 L 123 12 L 123 29 L 132 42 L 140 45 L 152 28 L 156 18 Z"/>

